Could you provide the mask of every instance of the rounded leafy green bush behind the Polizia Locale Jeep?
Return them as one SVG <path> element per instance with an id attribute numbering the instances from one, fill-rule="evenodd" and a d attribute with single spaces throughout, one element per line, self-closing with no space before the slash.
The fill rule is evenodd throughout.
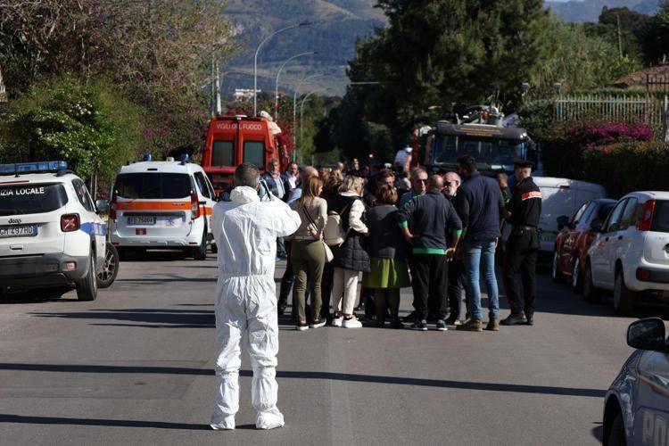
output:
<path id="1" fill-rule="evenodd" d="M 102 81 L 37 84 L 9 105 L 0 162 L 65 160 L 82 178 L 111 179 L 137 157 L 142 110 Z"/>

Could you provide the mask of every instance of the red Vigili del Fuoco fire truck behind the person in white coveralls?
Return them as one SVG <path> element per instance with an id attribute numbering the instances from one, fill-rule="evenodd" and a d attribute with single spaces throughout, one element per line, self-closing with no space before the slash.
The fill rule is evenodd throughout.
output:
<path id="1" fill-rule="evenodd" d="M 202 168 L 211 179 L 217 194 L 232 188 L 235 168 L 252 162 L 264 172 L 270 159 L 279 160 L 281 170 L 287 167 L 291 152 L 290 138 L 272 131 L 276 124 L 265 118 L 244 115 L 214 116 L 202 150 Z"/>

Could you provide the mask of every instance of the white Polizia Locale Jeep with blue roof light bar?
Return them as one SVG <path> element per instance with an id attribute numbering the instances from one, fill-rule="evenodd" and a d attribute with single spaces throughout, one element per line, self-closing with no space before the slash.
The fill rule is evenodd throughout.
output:
<path id="1" fill-rule="evenodd" d="M 106 233 L 65 161 L 0 164 L 0 289 L 73 284 L 95 300 Z"/>

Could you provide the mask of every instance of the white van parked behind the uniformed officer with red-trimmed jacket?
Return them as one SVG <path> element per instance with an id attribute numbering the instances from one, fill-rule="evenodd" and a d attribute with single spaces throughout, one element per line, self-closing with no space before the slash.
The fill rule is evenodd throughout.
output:
<path id="1" fill-rule="evenodd" d="M 555 239 L 560 230 L 558 217 L 566 216 L 567 220 L 570 219 L 583 203 L 596 198 L 606 198 L 607 191 L 603 186 L 577 179 L 533 177 L 533 180 L 541 189 L 539 250 L 549 252 L 552 256 Z"/>

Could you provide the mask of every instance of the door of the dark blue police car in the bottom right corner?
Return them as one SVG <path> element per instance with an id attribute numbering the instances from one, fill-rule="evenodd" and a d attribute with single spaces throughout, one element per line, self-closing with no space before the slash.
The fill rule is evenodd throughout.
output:
<path id="1" fill-rule="evenodd" d="M 639 359 L 634 444 L 669 443 L 669 354 L 644 351 Z"/>

